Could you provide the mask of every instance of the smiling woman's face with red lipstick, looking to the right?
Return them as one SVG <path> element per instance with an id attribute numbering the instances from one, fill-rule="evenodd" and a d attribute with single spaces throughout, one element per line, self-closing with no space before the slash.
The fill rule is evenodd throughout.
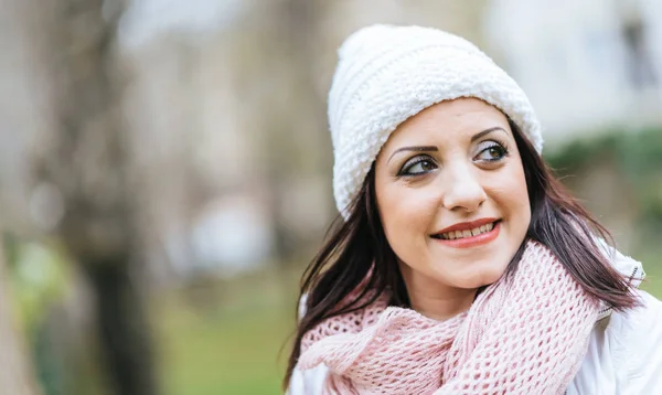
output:
<path id="1" fill-rule="evenodd" d="M 474 98 L 442 102 L 402 124 L 377 156 L 375 191 L 410 296 L 496 281 L 531 221 L 508 120 Z"/>

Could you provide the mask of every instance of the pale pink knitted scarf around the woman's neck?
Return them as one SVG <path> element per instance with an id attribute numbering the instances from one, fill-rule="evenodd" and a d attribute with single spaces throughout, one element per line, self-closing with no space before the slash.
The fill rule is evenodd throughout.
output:
<path id="1" fill-rule="evenodd" d="M 599 303 L 528 242 L 510 279 L 447 321 L 380 298 L 306 333 L 299 369 L 325 364 L 324 394 L 562 394 L 581 364 Z"/>

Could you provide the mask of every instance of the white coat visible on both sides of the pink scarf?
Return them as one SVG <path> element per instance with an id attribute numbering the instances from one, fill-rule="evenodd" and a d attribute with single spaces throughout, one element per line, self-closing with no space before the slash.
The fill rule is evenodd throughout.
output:
<path id="1" fill-rule="evenodd" d="M 617 253 L 615 268 L 643 278 L 641 264 Z M 638 290 L 642 306 L 626 312 L 606 312 L 590 333 L 588 351 L 568 395 L 662 394 L 662 302 Z M 288 395 L 318 395 L 328 369 L 295 369 Z"/>

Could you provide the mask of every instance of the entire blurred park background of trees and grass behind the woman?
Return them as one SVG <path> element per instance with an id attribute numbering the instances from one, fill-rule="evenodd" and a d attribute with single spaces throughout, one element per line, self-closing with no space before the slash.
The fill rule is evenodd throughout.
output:
<path id="1" fill-rule="evenodd" d="M 280 393 L 335 50 L 374 22 L 502 65 L 662 297 L 662 1 L 0 4 L 0 394 Z"/>

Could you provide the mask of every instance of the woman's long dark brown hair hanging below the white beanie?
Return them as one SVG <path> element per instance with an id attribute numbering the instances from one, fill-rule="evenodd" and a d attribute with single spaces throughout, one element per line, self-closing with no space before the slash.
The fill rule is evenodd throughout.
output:
<path id="1" fill-rule="evenodd" d="M 509 124 L 522 158 L 532 215 L 524 242 L 509 263 L 505 276 L 517 269 L 525 242 L 532 239 L 549 248 L 590 297 L 619 311 L 638 306 L 629 279 L 611 267 L 592 237 L 613 244 L 609 232 L 568 194 L 520 128 L 510 119 Z M 395 253 L 380 220 L 374 163 L 350 213 L 348 221 L 339 215 L 331 224 L 325 243 L 301 278 L 299 300 L 305 300 L 305 313 L 297 327 L 284 388 L 289 385 L 301 353 L 301 338 L 321 321 L 363 309 L 384 292 L 388 292 L 389 305 L 410 307 Z M 366 297 L 369 291 L 372 297 Z"/>

